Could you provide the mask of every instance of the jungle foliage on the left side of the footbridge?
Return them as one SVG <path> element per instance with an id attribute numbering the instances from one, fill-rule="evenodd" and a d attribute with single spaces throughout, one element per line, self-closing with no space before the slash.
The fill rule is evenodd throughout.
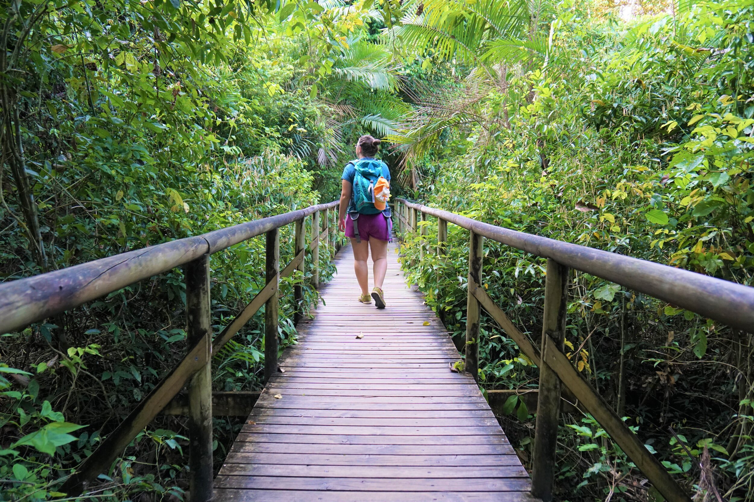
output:
<path id="1" fill-rule="evenodd" d="M 409 110 L 375 40 L 382 17 L 337 0 L 3 2 L 2 280 L 335 199 L 354 137 Z M 264 286 L 264 263 L 263 239 L 213 255 L 216 329 Z M 290 284 L 306 280 L 282 288 L 281 347 L 296 341 Z M 184 305 L 174 269 L 2 336 L 0 500 L 61 496 L 185 354 Z M 216 390 L 260 388 L 260 323 L 215 354 Z M 241 424 L 215 425 L 220 463 Z M 91 496 L 183 500 L 185 434 L 183 418 L 158 418 Z"/>

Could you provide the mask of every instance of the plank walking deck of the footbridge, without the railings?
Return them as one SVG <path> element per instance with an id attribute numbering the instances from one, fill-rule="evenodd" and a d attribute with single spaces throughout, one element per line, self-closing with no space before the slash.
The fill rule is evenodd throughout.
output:
<path id="1" fill-rule="evenodd" d="M 357 302 L 353 263 L 346 246 L 321 290 L 325 305 L 299 324 L 300 343 L 238 434 L 213 500 L 535 500 L 474 379 L 449 370 L 458 351 L 406 287 L 396 245 L 385 310 Z"/>

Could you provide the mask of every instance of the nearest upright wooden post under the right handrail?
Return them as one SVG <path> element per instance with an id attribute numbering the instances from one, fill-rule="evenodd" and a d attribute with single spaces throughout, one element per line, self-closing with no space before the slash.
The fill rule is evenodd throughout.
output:
<path id="1" fill-rule="evenodd" d="M 566 336 L 566 303 L 568 300 L 569 269 L 547 258 L 544 281 L 544 319 L 542 321 L 542 361 L 547 361 L 547 337 L 562 351 Z M 539 368 L 539 397 L 537 424 L 532 455 L 532 495 L 542 502 L 553 499 L 555 479 L 555 450 L 558 439 L 560 410 L 560 379 L 547 364 Z"/>

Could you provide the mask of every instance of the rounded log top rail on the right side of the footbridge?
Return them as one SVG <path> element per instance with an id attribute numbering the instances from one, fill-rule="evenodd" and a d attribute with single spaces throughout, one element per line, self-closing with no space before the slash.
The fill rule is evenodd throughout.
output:
<path id="1" fill-rule="evenodd" d="M 572 269 L 621 284 L 730 327 L 746 331 L 754 327 L 754 288 L 749 286 L 624 254 L 496 227 L 405 199 L 397 201 L 493 241 L 552 258 Z"/>

